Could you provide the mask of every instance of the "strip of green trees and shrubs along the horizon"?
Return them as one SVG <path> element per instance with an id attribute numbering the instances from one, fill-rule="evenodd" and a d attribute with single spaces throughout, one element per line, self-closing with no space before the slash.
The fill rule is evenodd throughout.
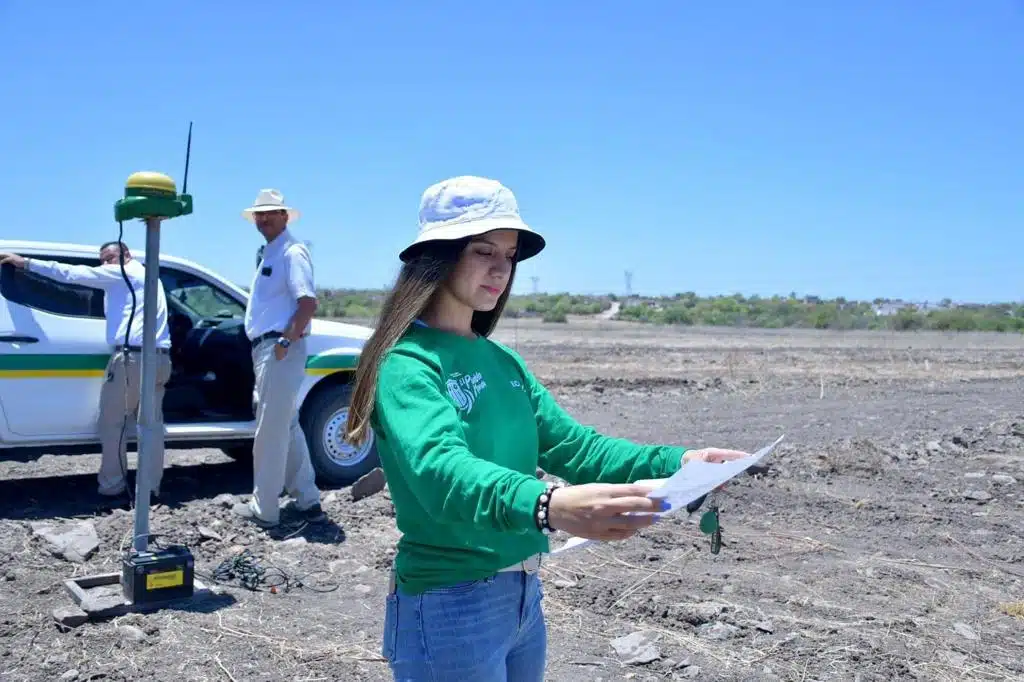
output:
<path id="1" fill-rule="evenodd" d="M 377 317 L 383 290 L 324 289 L 318 316 L 371 319 Z M 945 299 L 918 305 L 891 299 L 851 301 L 817 296 L 674 296 L 606 294 L 519 294 L 509 298 L 505 314 L 565 323 L 574 315 L 596 315 L 612 303 L 617 319 L 654 325 L 750 327 L 759 329 L 940 330 L 955 332 L 1024 332 L 1024 303 L 957 304 Z"/>

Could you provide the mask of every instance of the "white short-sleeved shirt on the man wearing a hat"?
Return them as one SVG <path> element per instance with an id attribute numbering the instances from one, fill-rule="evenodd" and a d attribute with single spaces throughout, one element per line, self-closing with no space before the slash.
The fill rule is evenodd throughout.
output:
<path id="1" fill-rule="evenodd" d="M 313 261 L 305 244 L 285 229 L 263 249 L 253 275 L 246 306 L 246 335 L 250 340 L 267 332 L 284 333 L 299 307 L 299 299 L 316 296 Z M 309 333 L 306 325 L 304 334 Z"/>

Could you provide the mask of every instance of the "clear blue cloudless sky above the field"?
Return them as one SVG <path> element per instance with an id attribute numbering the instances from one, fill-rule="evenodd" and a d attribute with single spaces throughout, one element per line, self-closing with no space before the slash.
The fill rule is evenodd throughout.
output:
<path id="1" fill-rule="evenodd" d="M 380 287 L 479 174 L 548 238 L 521 292 L 1024 298 L 1022 0 L 0 0 L 0 102 L 4 237 L 113 239 L 194 120 L 163 247 L 243 283 L 261 187 Z"/>

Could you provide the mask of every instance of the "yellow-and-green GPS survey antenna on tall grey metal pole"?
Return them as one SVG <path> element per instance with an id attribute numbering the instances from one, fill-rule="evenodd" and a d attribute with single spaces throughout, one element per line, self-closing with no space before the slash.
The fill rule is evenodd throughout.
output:
<path id="1" fill-rule="evenodd" d="M 138 408 L 138 471 L 135 476 L 135 527 L 132 545 L 137 552 L 150 546 L 150 481 L 157 449 L 163 446 L 164 432 L 157 420 L 157 291 L 160 287 L 160 223 L 193 212 L 188 185 L 188 157 L 191 153 L 191 123 L 185 152 L 185 174 L 181 194 L 163 173 L 133 173 L 125 182 L 124 198 L 114 205 L 118 222 L 145 222 L 145 293 L 142 299 L 142 378 Z"/>

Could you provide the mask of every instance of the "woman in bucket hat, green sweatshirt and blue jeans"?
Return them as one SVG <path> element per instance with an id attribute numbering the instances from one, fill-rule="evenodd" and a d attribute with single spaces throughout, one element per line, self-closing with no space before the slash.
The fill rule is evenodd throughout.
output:
<path id="1" fill-rule="evenodd" d="M 499 182 L 430 186 L 362 349 L 348 437 L 375 431 L 402 534 L 384 617 L 395 680 L 543 680 L 548 534 L 629 538 L 664 511 L 632 481 L 746 456 L 601 435 L 488 338 L 516 264 L 544 246 Z M 539 480 L 538 467 L 568 485 Z"/>

